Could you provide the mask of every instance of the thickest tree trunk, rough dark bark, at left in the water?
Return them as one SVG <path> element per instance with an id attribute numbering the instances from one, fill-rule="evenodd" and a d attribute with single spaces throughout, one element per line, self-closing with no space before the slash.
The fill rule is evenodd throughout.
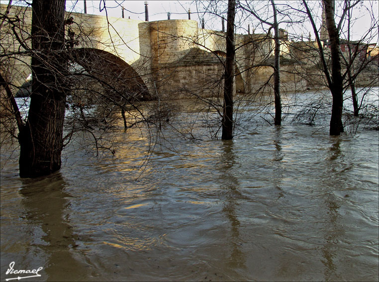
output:
<path id="1" fill-rule="evenodd" d="M 61 168 L 67 71 L 65 4 L 65 0 L 32 3 L 32 94 L 27 122 L 19 132 L 21 177 L 48 175 Z"/>

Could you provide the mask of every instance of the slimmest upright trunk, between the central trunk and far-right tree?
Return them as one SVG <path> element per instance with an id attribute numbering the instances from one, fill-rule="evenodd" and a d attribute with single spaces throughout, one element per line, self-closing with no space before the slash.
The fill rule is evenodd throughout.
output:
<path id="1" fill-rule="evenodd" d="M 277 9 L 274 0 L 271 0 L 274 12 L 274 37 L 275 37 L 275 63 L 274 63 L 274 95 L 275 95 L 275 125 L 282 124 L 282 100 L 280 91 L 280 75 L 281 75 L 281 65 L 280 65 L 280 41 L 279 41 L 279 24 L 277 19 Z"/>

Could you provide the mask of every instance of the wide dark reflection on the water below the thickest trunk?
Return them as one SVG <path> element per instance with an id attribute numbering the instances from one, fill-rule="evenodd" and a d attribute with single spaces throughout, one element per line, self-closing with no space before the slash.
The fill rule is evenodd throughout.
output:
<path id="1" fill-rule="evenodd" d="M 21 179 L 21 203 L 27 224 L 34 230 L 31 248 L 41 251 L 46 259 L 42 279 L 47 281 L 74 281 L 81 263 L 74 258 L 79 241 L 69 221 L 70 194 L 65 192 L 67 184 L 60 173 L 38 179 Z M 35 234 L 39 230 L 39 234 Z M 44 276 L 47 277 L 44 277 Z M 88 277 L 81 273 L 79 277 Z"/>

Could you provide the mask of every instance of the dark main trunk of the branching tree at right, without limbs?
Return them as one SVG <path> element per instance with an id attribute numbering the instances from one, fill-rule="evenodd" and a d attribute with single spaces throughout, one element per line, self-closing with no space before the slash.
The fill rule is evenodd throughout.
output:
<path id="1" fill-rule="evenodd" d="M 341 58 L 339 54 L 340 39 L 334 20 L 334 0 L 323 0 L 325 5 L 325 21 L 330 39 L 330 53 L 332 62 L 332 116 L 330 118 L 330 135 L 340 135 L 344 132 L 342 124 L 343 80 L 341 75 Z"/>

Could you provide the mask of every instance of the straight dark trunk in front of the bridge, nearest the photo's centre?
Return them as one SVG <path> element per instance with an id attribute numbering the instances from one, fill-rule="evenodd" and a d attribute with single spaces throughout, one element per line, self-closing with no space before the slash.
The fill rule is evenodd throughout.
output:
<path id="1" fill-rule="evenodd" d="M 224 108 L 222 117 L 223 140 L 233 138 L 233 94 L 235 92 L 235 48 L 234 48 L 234 17 L 235 0 L 228 0 L 226 25 L 226 61 L 224 80 Z"/>

